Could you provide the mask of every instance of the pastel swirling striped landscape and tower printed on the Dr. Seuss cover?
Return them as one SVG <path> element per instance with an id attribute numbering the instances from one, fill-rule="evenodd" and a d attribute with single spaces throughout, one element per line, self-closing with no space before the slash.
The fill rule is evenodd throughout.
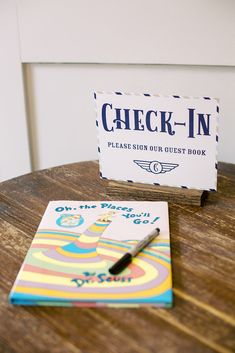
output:
<path id="1" fill-rule="evenodd" d="M 109 274 L 112 264 L 137 242 L 103 236 L 115 216 L 115 212 L 100 215 L 81 234 L 39 229 L 10 301 L 28 305 L 35 305 L 36 301 L 38 305 L 159 303 L 170 306 L 172 284 L 168 240 L 156 239 L 122 273 Z M 76 221 L 81 219 L 82 216 L 76 217 Z"/>

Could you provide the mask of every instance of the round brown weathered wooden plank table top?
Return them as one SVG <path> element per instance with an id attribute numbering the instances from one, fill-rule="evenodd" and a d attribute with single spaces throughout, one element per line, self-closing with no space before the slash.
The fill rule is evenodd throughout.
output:
<path id="1" fill-rule="evenodd" d="M 232 352 L 235 165 L 220 164 L 203 208 L 170 206 L 173 309 L 14 307 L 7 298 L 50 200 L 106 199 L 97 162 L 0 185 L 0 352 Z"/>

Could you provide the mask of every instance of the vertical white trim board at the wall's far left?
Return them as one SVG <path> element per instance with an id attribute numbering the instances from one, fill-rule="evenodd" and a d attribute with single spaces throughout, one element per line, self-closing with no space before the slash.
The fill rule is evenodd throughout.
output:
<path id="1" fill-rule="evenodd" d="M 29 172 L 30 156 L 15 3 L 0 1 L 0 181 Z"/>

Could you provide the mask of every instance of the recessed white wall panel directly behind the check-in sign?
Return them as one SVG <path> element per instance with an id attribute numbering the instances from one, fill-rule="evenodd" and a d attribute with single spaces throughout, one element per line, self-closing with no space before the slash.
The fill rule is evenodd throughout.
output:
<path id="1" fill-rule="evenodd" d="M 94 90 L 220 98 L 220 161 L 235 163 L 235 68 L 173 65 L 27 65 L 36 169 L 97 158 Z"/>

